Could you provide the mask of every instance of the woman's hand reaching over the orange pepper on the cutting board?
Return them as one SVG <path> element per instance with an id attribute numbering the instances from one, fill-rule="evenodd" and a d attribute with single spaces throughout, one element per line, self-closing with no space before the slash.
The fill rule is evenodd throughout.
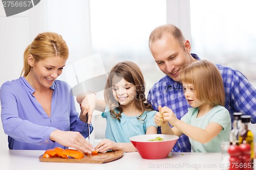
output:
<path id="1" fill-rule="evenodd" d="M 65 147 L 75 148 L 88 154 L 93 151 L 93 145 L 79 132 L 55 130 L 50 134 L 50 139 Z"/>

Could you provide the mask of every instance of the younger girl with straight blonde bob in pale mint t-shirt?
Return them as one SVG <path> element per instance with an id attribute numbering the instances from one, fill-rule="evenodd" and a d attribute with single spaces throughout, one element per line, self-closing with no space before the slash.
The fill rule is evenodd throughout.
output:
<path id="1" fill-rule="evenodd" d="M 221 152 L 221 142 L 229 140 L 231 119 L 223 107 L 225 92 L 217 66 L 207 60 L 193 62 L 181 72 L 180 80 L 191 108 L 179 120 L 170 108 L 159 106 L 155 123 L 163 134 L 187 135 L 191 152 Z"/>

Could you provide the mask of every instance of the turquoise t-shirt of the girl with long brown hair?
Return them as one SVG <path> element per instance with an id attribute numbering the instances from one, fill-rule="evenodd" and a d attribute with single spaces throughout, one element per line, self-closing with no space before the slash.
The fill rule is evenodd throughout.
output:
<path id="1" fill-rule="evenodd" d="M 141 119 L 145 118 L 143 122 L 138 120 L 137 116 L 130 117 L 121 113 L 119 121 L 111 116 L 109 108 L 106 107 L 105 112 L 102 113 L 102 117 L 106 118 L 105 138 L 114 142 L 129 143 L 130 137 L 146 134 L 146 129 L 150 126 L 157 127 L 154 120 L 155 114 L 156 111 L 145 111 L 140 116 Z"/>

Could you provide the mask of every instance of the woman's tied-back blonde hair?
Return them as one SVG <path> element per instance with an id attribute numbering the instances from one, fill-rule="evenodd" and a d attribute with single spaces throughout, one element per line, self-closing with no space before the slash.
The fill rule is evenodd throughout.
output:
<path id="1" fill-rule="evenodd" d="M 57 33 L 46 32 L 38 34 L 24 52 L 24 66 L 20 76 L 23 73 L 24 77 L 29 74 L 31 66 L 28 64 L 28 56 L 30 54 L 33 56 L 35 62 L 54 56 L 68 59 L 69 48 L 66 41 Z"/>

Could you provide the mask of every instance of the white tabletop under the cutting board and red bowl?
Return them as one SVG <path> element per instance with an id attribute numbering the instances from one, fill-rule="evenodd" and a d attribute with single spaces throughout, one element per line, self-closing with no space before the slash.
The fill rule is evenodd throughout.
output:
<path id="1" fill-rule="evenodd" d="M 40 162 L 38 157 L 42 154 L 44 151 L 0 150 L 0 168 L 4 170 L 222 169 L 220 153 L 171 153 L 170 158 L 150 160 L 142 159 L 138 152 L 131 152 L 124 153 L 118 160 L 101 164 Z"/>

